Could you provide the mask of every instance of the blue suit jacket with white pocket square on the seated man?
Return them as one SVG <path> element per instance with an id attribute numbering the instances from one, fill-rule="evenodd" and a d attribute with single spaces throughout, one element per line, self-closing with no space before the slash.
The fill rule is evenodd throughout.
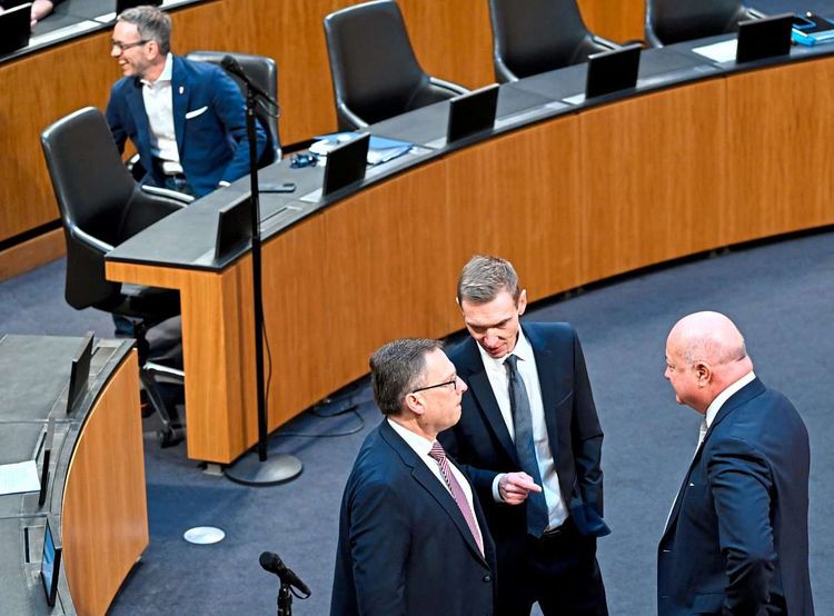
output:
<path id="1" fill-rule="evenodd" d="M 221 180 L 231 182 L 246 176 L 246 103 L 235 81 L 219 67 L 175 56 L 171 96 L 180 165 L 195 192 L 207 195 Z M 119 151 L 126 139 L 132 141 L 148 171 L 142 181 L 165 186 L 161 170 L 152 165 L 150 127 L 138 78 L 123 77 L 113 85 L 107 122 Z M 256 131 L 260 157 L 267 138 L 260 125 L 256 125 Z"/>

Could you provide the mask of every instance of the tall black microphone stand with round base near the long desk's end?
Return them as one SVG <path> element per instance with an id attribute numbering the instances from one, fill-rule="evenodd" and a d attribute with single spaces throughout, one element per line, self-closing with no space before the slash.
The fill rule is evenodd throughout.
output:
<path id="1" fill-rule="evenodd" d="M 286 454 L 267 456 L 267 401 L 264 378 L 264 295 L 261 290 L 260 260 L 260 191 L 258 189 L 258 142 L 256 139 L 255 116 L 256 92 L 246 86 L 246 132 L 249 138 L 249 180 L 251 187 L 251 235 L 252 235 L 252 304 L 255 308 L 255 377 L 258 397 L 258 446 L 257 458 L 245 454 L 226 467 L 225 475 L 238 484 L 266 487 L 295 479 L 301 473 L 301 461 Z M 284 585 L 281 585 L 281 588 Z M 291 604 L 291 597 L 290 597 Z M 278 614 L 281 614 L 280 597 Z M 289 614 L 289 613 L 287 613 Z"/>

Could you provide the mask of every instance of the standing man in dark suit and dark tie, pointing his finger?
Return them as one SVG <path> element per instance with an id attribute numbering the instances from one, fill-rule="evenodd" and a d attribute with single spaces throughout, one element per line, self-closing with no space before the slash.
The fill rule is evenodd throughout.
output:
<path id="1" fill-rule="evenodd" d="M 458 281 L 470 337 L 449 351 L 469 393 L 440 435 L 469 473 L 498 554 L 502 616 L 607 614 L 596 562 L 603 431 L 582 347 L 567 324 L 519 324 L 513 266 L 474 257 Z"/>

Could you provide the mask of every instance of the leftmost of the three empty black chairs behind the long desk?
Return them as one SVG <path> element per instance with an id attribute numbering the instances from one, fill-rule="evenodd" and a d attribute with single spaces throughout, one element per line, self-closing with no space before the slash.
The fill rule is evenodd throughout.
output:
<path id="1" fill-rule="evenodd" d="M 377 0 L 325 18 L 339 129 L 355 130 L 468 90 L 427 74 L 399 6 Z"/>

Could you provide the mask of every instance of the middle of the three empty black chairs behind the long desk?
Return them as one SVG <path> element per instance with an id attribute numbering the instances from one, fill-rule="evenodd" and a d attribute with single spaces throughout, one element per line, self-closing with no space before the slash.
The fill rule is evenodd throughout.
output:
<path id="1" fill-rule="evenodd" d="M 619 46 L 594 36 L 576 0 L 489 0 L 495 79 L 517 81 Z"/>

